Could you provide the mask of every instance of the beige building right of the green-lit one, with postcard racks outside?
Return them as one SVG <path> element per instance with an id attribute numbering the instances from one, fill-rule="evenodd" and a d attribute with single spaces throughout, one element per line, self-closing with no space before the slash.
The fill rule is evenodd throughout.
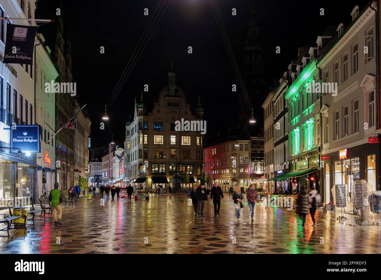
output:
<path id="1" fill-rule="evenodd" d="M 372 4 L 376 8 L 375 2 Z M 352 194 L 354 181 L 365 179 L 379 190 L 379 139 L 377 118 L 376 13 L 355 6 L 352 22 L 343 24 L 328 42 L 318 67 L 325 83 L 335 83 L 336 92 L 322 94 L 323 197 L 333 202 L 331 188 L 346 184 Z M 331 43 L 329 45 L 329 43 Z M 364 53 L 368 48 L 368 53 Z M 352 197 L 352 195 L 351 195 Z M 353 197 L 352 197 L 353 199 Z"/>

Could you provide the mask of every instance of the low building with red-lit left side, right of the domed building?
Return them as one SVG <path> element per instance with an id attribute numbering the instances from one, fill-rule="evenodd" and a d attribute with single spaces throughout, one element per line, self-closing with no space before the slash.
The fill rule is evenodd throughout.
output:
<path id="1" fill-rule="evenodd" d="M 226 141 L 203 149 L 204 170 L 212 185 L 217 182 L 224 192 L 230 187 L 250 186 L 250 140 Z"/>

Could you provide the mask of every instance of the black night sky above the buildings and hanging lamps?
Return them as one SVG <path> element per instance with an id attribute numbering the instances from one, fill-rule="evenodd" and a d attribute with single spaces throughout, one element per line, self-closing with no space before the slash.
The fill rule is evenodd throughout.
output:
<path id="1" fill-rule="evenodd" d="M 60 2 L 63 1 L 39 0 L 37 15 L 48 18 L 55 14 Z M 81 104 L 88 104 L 87 110 L 92 122 L 92 147 L 105 145 L 111 139 L 107 127 L 105 130 L 99 129 L 104 104 L 113 92 L 158 3 L 159 0 L 64 1 L 62 15 L 64 24 L 70 26 L 71 30 L 77 98 Z M 352 8 L 359 5 L 362 10 L 367 3 L 364 0 L 254 1 L 254 10 L 261 28 L 268 85 L 274 79 L 279 80 L 287 70 L 288 64 L 296 58 L 299 46 L 315 44 L 317 36 L 329 24 L 338 26 L 344 22 L 346 29 L 345 22 L 350 20 Z M 218 0 L 218 6 L 243 75 L 243 47 L 251 0 Z M 149 9 L 149 16 L 143 15 L 144 8 Z M 231 15 L 232 8 L 237 9 L 237 16 Z M 319 15 L 320 8 L 325 9 L 324 16 Z M 42 30 L 50 28 L 49 24 L 41 27 Z M 54 42 L 48 44 L 54 49 Z M 99 52 L 100 46 L 105 47 L 104 54 Z M 188 46 L 193 47 L 192 54 L 188 54 Z M 275 53 L 276 46 L 280 46 L 280 54 Z M 197 104 L 200 94 L 204 117 L 208 123 L 213 123 L 216 130 L 224 130 L 232 120 L 238 120 L 238 93 L 231 91 L 231 85 L 238 83 L 210 2 L 172 0 L 107 111 L 117 143 L 122 143 L 125 122 L 128 115 L 133 114 L 134 96 L 139 101 L 144 84 L 148 84 L 149 92 L 144 93 L 144 99 L 151 106 L 159 91 L 168 83 L 167 72 L 171 61 L 177 73 L 176 84 L 184 90 L 192 107 Z M 258 100 L 251 100 L 251 103 L 262 103 L 264 98 L 266 96 L 258 97 Z"/>

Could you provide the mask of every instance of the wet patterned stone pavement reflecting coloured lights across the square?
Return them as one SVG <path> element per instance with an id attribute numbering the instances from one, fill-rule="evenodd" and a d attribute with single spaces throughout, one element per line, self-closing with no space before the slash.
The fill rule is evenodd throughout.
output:
<path id="1" fill-rule="evenodd" d="M 99 200 L 80 197 L 76 207 L 63 210 L 61 226 L 46 215 L 35 226 L 28 221 L 27 230 L 10 230 L 9 238 L 0 232 L 0 253 L 381 253 L 379 232 L 320 216 L 316 228 L 310 216 L 303 228 L 295 211 L 257 203 L 254 222 L 248 205 L 237 222 L 227 195 L 221 216 L 214 216 L 213 202 L 205 203 L 205 218 L 194 216 L 182 194 L 131 202 L 108 198 L 104 206 Z"/>

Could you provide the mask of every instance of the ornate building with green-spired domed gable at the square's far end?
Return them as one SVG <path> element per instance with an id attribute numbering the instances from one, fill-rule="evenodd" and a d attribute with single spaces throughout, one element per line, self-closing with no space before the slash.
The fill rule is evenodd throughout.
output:
<path id="1" fill-rule="evenodd" d="M 201 102 L 191 110 L 184 92 L 176 85 L 176 73 L 168 72 L 168 85 L 149 112 L 141 93 L 133 120 L 126 123 L 125 174 L 135 188 L 174 186 L 173 175 L 189 173 L 191 182 L 202 171 L 203 134 L 178 131 L 176 121 L 203 122 Z M 185 127 L 184 127 L 185 128 Z M 200 126 L 201 128 L 201 126 Z"/>

